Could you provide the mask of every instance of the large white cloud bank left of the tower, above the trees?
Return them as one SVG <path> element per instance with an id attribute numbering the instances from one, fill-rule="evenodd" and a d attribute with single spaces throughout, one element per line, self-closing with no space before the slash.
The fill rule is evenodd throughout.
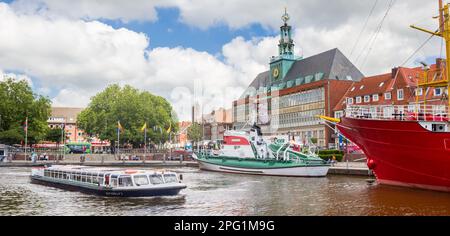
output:
<path id="1" fill-rule="evenodd" d="M 0 35 L 5 35 L 0 37 L 0 68 L 36 78 L 41 86 L 37 91 L 56 91 L 55 106 L 86 106 L 91 96 L 112 83 L 171 98 L 175 87 L 193 93 L 193 81 L 200 81 L 207 107 L 230 107 L 237 96 L 224 91 L 245 84 L 238 82 L 244 80 L 243 72 L 206 52 L 181 47 L 148 51 L 149 39 L 127 29 L 19 14 L 4 3 L 0 18 Z M 173 102 L 177 106 L 186 100 Z M 178 115 L 188 119 L 190 110 Z"/>

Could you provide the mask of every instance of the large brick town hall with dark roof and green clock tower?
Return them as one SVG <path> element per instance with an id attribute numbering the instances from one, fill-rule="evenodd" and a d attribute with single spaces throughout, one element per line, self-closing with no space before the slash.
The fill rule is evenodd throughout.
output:
<path id="1" fill-rule="evenodd" d="M 331 147 L 334 131 L 317 115 L 333 116 L 349 87 L 364 75 L 339 49 L 308 58 L 296 56 L 289 15 L 285 13 L 282 19 L 278 56 L 271 58 L 269 70 L 260 73 L 233 102 L 234 129 L 248 129 L 257 123 L 266 136 L 290 134 Z"/>

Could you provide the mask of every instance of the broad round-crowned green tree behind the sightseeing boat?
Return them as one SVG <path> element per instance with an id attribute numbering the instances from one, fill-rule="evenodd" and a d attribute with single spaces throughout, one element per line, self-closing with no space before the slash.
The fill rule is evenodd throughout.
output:
<path id="1" fill-rule="evenodd" d="M 172 106 L 164 98 L 129 85 L 111 85 L 95 95 L 77 118 L 78 126 L 89 136 L 117 141 L 117 122 L 124 128 L 120 143 L 137 147 L 144 142 L 141 128 L 147 123 L 147 137 L 155 142 L 168 140 L 168 129 L 178 130 Z M 161 129 L 153 129 L 161 127 Z M 160 132 L 161 130 L 161 132 Z"/>

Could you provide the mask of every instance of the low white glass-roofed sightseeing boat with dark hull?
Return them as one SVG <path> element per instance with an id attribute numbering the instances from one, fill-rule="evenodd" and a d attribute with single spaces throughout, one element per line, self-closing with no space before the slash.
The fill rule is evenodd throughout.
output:
<path id="1" fill-rule="evenodd" d="M 85 166 L 33 168 L 32 183 L 107 197 L 177 195 L 186 188 L 170 171 L 122 170 Z"/>

